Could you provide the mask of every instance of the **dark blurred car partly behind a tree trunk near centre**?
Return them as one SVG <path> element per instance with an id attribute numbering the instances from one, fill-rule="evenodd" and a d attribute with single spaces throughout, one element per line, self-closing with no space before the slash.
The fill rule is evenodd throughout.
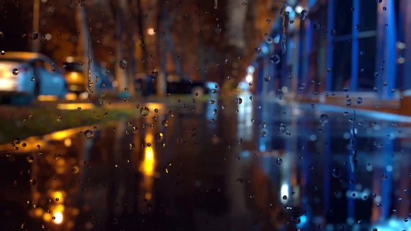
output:
<path id="1" fill-rule="evenodd" d="M 155 77 L 147 75 L 136 80 L 136 86 L 143 88 L 144 95 L 156 93 Z M 210 92 L 210 84 L 184 80 L 173 73 L 167 75 L 166 93 L 170 94 L 191 94 L 201 96 Z"/>

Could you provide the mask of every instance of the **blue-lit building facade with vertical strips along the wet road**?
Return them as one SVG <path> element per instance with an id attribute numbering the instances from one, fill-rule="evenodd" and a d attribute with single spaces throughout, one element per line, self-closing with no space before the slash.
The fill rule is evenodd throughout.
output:
<path id="1" fill-rule="evenodd" d="M 411 89 L 411 1 L 306 0 L 284 10 L 269 34 L 273 43 L 264 41 L 253 63 L 257 94 L 348 88 L 388 99 L 394 89 Z M 278 64 L 270 60 L 275 55 Z"/>

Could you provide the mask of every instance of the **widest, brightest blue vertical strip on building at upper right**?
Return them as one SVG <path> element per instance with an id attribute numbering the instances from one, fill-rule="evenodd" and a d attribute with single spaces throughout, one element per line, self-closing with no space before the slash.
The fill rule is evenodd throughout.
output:
<path id="1" fill-rule="evenodd" d="M 385 81 L 388 86 L 384 89 L 384 97 L 392 98 L 393 94 L 390 93 L 390 88 L 395 88 L 395 80 L 397 78 L 397 25 L 395 22 L 395 0 L 386 0 L 386 23 L 388 27 L 385 27 L 385 54 L 386 54 L 386 74 L 384 75 Z M 379 8 L 382 5 L 379 4 Z M 378 9 L 379 12 L 382 10 Z M 384 12 L 382 12 L 384 14 Z M 385 23 L 384 23 L 385 24 Z"/>

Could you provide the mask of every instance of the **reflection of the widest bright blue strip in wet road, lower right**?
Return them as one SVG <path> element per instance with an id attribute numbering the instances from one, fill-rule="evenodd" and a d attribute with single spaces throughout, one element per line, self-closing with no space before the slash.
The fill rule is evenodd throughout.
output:
<path id="1" fill-rule="evenodd" d="M 393 158 L 391 157 L 391 154 L 394 153 L 394 142 L 392 140 L 387 141 L 384 143 L 384 164 L 386 166 L 382 166 L 382 172 L 386 173 L 387 178 L 382 181 L 382 189 L 381 189 L 381 202 L 382 207 L 381 213 L 379 217 L 382 219 L 382 221 L 385 221 L 385 219 L 388 218 L 390 215 L 390 206 L 391 206 L 391 191 L 393 187 L 393 172 L 392 171 L 386 171 L 386 167 L 390 166 L 393 167 Z"/>

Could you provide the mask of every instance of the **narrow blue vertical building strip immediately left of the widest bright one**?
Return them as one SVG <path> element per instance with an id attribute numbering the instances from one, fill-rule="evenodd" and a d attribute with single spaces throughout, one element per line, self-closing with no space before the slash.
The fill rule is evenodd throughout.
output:
<path id="1" fill-rule="evenodd" d="M 353 0 L 353 25 L 352 25 L 352 40 L 351 40 L 351 86 L 350 91 L 358 90 L 358 29 L 356 25 L 360 25 L 360 0 Z"/>

